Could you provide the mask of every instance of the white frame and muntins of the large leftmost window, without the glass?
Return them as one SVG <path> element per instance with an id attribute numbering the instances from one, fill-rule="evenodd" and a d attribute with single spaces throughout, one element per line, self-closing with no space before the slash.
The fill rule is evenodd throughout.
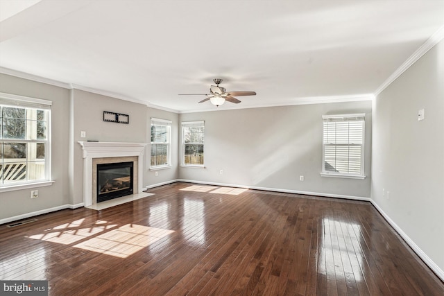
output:
<path id="1" fill-rule="evenodd" d="M 43 143 L 44 144 L 44 178 L 40 180 L 24 180 L 10 183 L 3 183 L 0 181 L 0 192 L 15 191 L 19 189 L 35 188 L 40 186 L 49 186 L 54 181 L 51 175 L 51 107 L 52 101 L 43 100 L 40 98 L 31 98 L 27 96 L 18 96 L 15 94 L 6 94 L 0 92 L 0 105 L 3 107 L 12 108 L 24 108 L 26 110 L 45 110 L 46 114 L 46 139 L 26 139 L 27 135 L 25 132 L 25 139 L 3 139 L 3 134 L 0 137 L 0 144 L 3 143 L 26 143 L 26 158 L 25 163 L 32 162 L 28 157 L 28 143 Z M 24 119 L 26 122 L 30 119 Z M 3 132 L 3 131 L 1 131 Z M 1 159 L 1 164 L 4 164 L 3 158 Z M 28 174 L 28 171 L 26 171 Z M 2 176 L 3 178 L 3 176 Z"/>

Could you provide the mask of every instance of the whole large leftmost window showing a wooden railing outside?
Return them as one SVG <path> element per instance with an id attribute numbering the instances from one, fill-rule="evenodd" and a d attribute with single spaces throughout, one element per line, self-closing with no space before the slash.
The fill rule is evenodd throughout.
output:
<path id="1" fill-rule="evenodd" d="M 49 181 L 51 101 L 0 94 L 0 188 Z"/>

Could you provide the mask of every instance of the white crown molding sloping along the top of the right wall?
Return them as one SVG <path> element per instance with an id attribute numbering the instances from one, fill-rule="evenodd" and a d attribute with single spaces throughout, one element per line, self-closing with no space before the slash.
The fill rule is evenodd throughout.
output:
<path id="1" fill-rule="evenodd" d="M 438 44 L 438 42 L 443 40 L 443 38 L 444 38 L 444 26 L 439 28 L 438 31 L 434 33 L 434 35 L 432 35 L 424 44 L 422 44 L 419 49 L 417 49 L 398 69 L 396 69 L 396 71 L 394 71 L 391 74 L 391 76 L 388 76 L 388 78 L 382 83 L 382 85 L 380 85 L 376 89 L 375 96 L 381 94 L 381 92 L 384 91 L 384 89 L 386 89 L 388 85 L 391 85 L 393 81 L 395 81 L 398 77 L 400 77 L 402 73 L 407 71 L 407 69 L 409 69 L 409 67 L 412 64 L 414 64 L 417 60 L 419 60 L 422 57 L 422 55 L 425 55 L 425 53 L 427 53 L 427 51 L 432 49 L 433 46 Z"/>

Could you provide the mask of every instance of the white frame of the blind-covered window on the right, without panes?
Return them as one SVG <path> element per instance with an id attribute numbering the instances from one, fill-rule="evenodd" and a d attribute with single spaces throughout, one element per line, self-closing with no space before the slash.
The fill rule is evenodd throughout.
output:
<path id="1" fill-rule="evenodd" d="M 351 179 L 364 179 L 365 175 L 365 139 L 366 139 L 366 114 L 338 114 L 338 115 L 323 115 L 323 133 L 322 133 L 322 168 L 321 168 L 321 176 L 322 177 L 341 177 L 341 178 L 351 178 Z M 334 121 L 334 122 L 361 122 L 362 130 L 361 130 L 361 143 L 325 143 L 325 122 Z M 336 129 L 335 129 L 336 132 Z M 350 130 L 348 130 L 350 132 Z M 361 147 L 361 155 L 360 155 L 360 171 L 359 173 L 335 173 L 334 171 L 327 171 L 325 169 L 325 148 L 327 146 L 346 146 L 346 147 Z M 348 157 L 350 160 L 350 156 Z"/>

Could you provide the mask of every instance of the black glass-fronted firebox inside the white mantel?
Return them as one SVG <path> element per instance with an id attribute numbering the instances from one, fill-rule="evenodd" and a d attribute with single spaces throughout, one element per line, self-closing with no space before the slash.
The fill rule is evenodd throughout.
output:
<path id="1" fill-rule="evenodd" d="M 97 164 L 97 202 L 133 194 L 133 162 Z"/>

